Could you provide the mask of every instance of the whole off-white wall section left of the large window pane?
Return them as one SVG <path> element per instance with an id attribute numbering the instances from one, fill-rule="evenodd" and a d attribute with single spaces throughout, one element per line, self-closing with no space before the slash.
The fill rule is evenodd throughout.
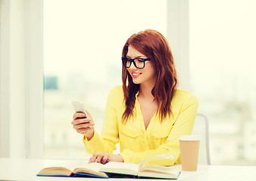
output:
<path id="1" fill-rule="evenodd" d="M 1 1 L 0 5 L 0 157 L 27 158 L 33 152 L 38 157 L 42 149 L 42 0 Z"/>

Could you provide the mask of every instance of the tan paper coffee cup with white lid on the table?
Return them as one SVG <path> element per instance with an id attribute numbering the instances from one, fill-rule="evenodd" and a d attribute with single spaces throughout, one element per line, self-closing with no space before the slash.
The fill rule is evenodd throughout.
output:
<path id="1" fill-rule="evenodd" d="M 199 144 L 198 136 L 182 135 L 180 137 L 180 158 L 183 171 L 197 170 Z"/>

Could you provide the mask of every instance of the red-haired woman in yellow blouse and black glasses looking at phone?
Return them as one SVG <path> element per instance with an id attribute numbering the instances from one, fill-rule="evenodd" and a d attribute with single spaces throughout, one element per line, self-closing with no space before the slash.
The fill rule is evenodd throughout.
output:
<path id="1" fill-rule="evenodd" d="M 101 137 L 92 116 L 73 115 L 73 128 L 84 135 L 89 162 L 124 161 L 171 154 L 161 165 L 180 164 L 180 135 L 192 133 L 198 109 L 196 97 L 177 89 L 169 44 L 160 32 L 147 29 L 132 35 L 123 47 L 123 87 L 111 90 Z M 120 141 L 120 154 L 113 155 Z"/>

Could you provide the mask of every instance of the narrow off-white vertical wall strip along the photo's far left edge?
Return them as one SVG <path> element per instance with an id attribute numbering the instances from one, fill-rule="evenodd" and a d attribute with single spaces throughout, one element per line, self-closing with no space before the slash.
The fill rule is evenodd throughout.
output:
<path id="1" fill-rule="evenodd" d="M 10 76 L 9 76 L 9 37 L 10 2 L 0 2 L 0 156 L 10 155 Z"/>

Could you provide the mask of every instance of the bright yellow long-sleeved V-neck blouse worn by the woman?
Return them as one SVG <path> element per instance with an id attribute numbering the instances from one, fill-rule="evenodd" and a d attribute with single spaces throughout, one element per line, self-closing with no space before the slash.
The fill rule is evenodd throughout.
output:
<path id="1" fill-rule="evenodd" d="M 138 95 L 138 94 L 137 94 Z M 136 95 L 136 96 L 137 96 Z M 125 110 L 122 86 L 114 87 L 109 96 L 105 110 L 105 122 L 101 137 L 95 131 L 91 140 L 83 141 L 87 152 L 112 153 L 120 142 L 120 155 L 127 163 L 139 164 L 145 158 L 155 155 L 172 154 L 174 159 L 155 161 L 154 164 L 180 164 L 180 135 L 191 134 L 198 109 L 198 100 L 184 90 L 176 90 L 171 102 L 173 115 L 162 122 L 158 115 L 151 118 L 147 130 L 142 118 L 139 102 L 136 98 L 135 116 L 123 124 L 121 121 Z"/>

